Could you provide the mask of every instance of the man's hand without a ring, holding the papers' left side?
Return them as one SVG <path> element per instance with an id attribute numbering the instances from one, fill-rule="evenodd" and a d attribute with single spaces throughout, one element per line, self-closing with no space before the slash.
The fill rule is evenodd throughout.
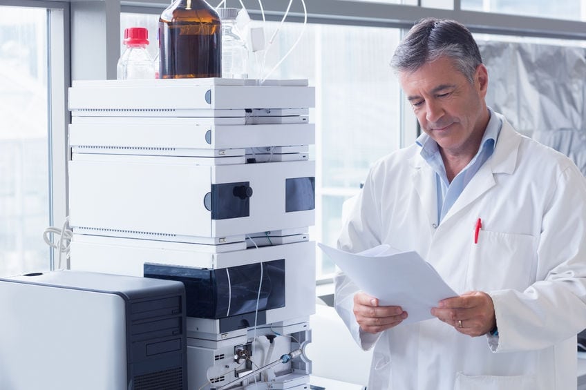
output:
<path id="1" fill-rule="evenodd" d="M 407 318 L 400 306 L 379 306 L 377 298 L 362 292 L 354 295 L 354 315 L 360 328 L 368 333 L 385 331 Z"/>

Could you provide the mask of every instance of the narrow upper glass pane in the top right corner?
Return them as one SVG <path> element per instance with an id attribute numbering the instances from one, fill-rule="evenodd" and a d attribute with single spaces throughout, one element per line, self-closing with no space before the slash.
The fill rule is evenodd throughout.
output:
<path id="1" fill-rule="evenodd" d="M 462 0 L 462 10 L 586 21 L 584 0 Z"/>

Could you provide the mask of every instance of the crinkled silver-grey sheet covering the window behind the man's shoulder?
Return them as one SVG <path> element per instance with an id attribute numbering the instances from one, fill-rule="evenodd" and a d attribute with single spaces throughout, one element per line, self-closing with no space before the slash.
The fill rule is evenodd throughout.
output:
<path id="1" fill-rule="evenodd" d="M 479 41 L 486 102 L 524 135 L 569 156 L 586 175 L 586 48 Z"/>

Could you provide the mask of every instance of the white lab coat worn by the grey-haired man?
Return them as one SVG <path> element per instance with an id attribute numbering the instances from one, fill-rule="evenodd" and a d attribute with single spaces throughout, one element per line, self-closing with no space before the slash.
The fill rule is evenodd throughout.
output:
<path id="1" fill-rule="evenodd" d="M 379 244 L 417 251 L 457 293 L 491 295 L 499 335 L 471 338 L 436 318 L 362 333 L 352 313 L 357 288 L 339 274 L 339 315 L 363 349 L 375 345 L 368 390 L 576 389 L 586 179 L 499 117 L 493 155 L 439 226 L 435 173 L 413 145 L 373 166 L 338 242 L 353 253 Z"/>

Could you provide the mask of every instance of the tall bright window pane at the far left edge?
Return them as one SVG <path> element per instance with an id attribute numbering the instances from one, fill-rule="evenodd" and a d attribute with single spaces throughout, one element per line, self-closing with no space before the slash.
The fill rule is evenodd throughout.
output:
<path id="1" fill-rule="evenodd" d="M 47 10 L 0 6 L 0 275 L 49 268 Z"/>

